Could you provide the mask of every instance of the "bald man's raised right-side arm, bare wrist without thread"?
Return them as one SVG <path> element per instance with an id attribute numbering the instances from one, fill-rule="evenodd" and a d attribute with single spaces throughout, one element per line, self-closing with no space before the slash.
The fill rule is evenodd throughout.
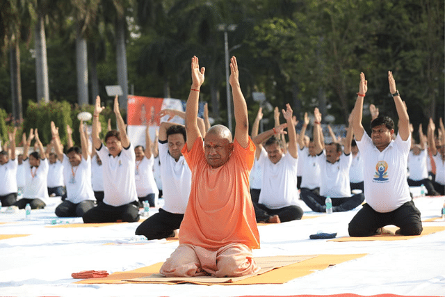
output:
<path id="1" fill-rule="evenodd" d="M 249 143 L 249 117 L 248 105 L 245 103 L 241 87 L 239 86 L 238 63 L 235 56 L 230 59 L 230 86 L 234 97 L 235 111 L 235 139 L 241 147 L 248 147 Z"/>

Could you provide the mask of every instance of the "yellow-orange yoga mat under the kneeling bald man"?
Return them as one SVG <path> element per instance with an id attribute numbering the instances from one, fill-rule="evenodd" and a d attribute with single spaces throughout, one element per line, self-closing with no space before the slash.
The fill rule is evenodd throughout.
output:
<path id="1" fill-rule="evenodd" d="M 275 256 L 275 257 L 257 257 L 255 261 L 260 263 L 266 263 L 269 266 L 275 266 L 278 262 L 286 262 L 286 266 L 279 268 L 273 268 L 273 270 L 267 271 L 260 275 L 248 276 L 240 280 L 232 282 L 220 282 L 218 278 L 211 278 L 214 281 L 206 280 L 205 283 L 197 282 L 197 278 L 182 278 L 181 282 L 176 280 L 168 282 L 168 278 L 164 278 L 163 281 L 152 282 L 149 280 L 150 275 L 156 275 L 159 273 L 159 268 L 162 266 L 162 262 L 135 269 L 133 271 L 117 272 L 108 275 L 106 278 L 95 278 L 88 280 L 81 280 L 75 282 L 76 284 L 125 284 L 125 283 L 163 283 L 163 284 L 178 284 L 182 282 L 189 282 L 195 284 L 284 284 L 294 278 L 300 278 L 302 276 L 314 273 L 314 271 L 322 270 L 328 266 L 340 264 L 342 262 L 364 257 L 366 254 L 354 254 L 354 255 L 303 255 L 303 256 Z M 289 261 L 293 264 L 289 264 Z M 209 278 L 209 277 L 208 277 Z"/>

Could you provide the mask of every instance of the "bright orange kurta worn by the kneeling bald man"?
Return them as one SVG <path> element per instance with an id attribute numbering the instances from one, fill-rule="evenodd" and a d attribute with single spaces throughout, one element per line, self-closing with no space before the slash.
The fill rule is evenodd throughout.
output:
<path id="1" fill-rule="evenodd" d="M 202 138 L 197 138 L 182 154 L 192 172 L 190 198 L 182 220 L 179 243 L 218 250 L 230 243 L 259 248 L 259 232 L 250 199 L 249 173 L 255 145 L 247 148 L 234 141 L 227 163 L 211 168 L 204 156 Z"/>

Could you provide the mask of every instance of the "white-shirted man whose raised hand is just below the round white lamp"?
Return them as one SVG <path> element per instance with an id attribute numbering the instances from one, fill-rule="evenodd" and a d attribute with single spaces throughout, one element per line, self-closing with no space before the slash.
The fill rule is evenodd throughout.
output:
<path id="1" fill-rule="evenodd" d="M 63 178 L 66 181 L 67 198 L 56 207 L 56 216 L 79 217 L 95 207 L 95 195 L 91 186 L 91 159 L 88 154 L 88 143 L 83 122 L 79 126 L 81 148 L 70 147 L 63 154 L 58 129 L 51 122 L 51 134 L 58 159 L 63 163 Z"/>

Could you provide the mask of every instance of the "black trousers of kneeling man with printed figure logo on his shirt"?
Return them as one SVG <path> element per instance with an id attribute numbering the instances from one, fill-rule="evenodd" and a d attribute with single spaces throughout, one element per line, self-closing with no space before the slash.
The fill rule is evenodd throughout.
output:
<path id="1" fill-rule="evenodd" d="M 348 232 L 350 236 L 371 236 L 376 234 L 378 228 L 387 225 L 400 227 L 402 235 L 419 235 L 423 230 L 420 211 L 411 200 L 386 213 L 375 211 L 365 203 L 350 221 Z"/>

